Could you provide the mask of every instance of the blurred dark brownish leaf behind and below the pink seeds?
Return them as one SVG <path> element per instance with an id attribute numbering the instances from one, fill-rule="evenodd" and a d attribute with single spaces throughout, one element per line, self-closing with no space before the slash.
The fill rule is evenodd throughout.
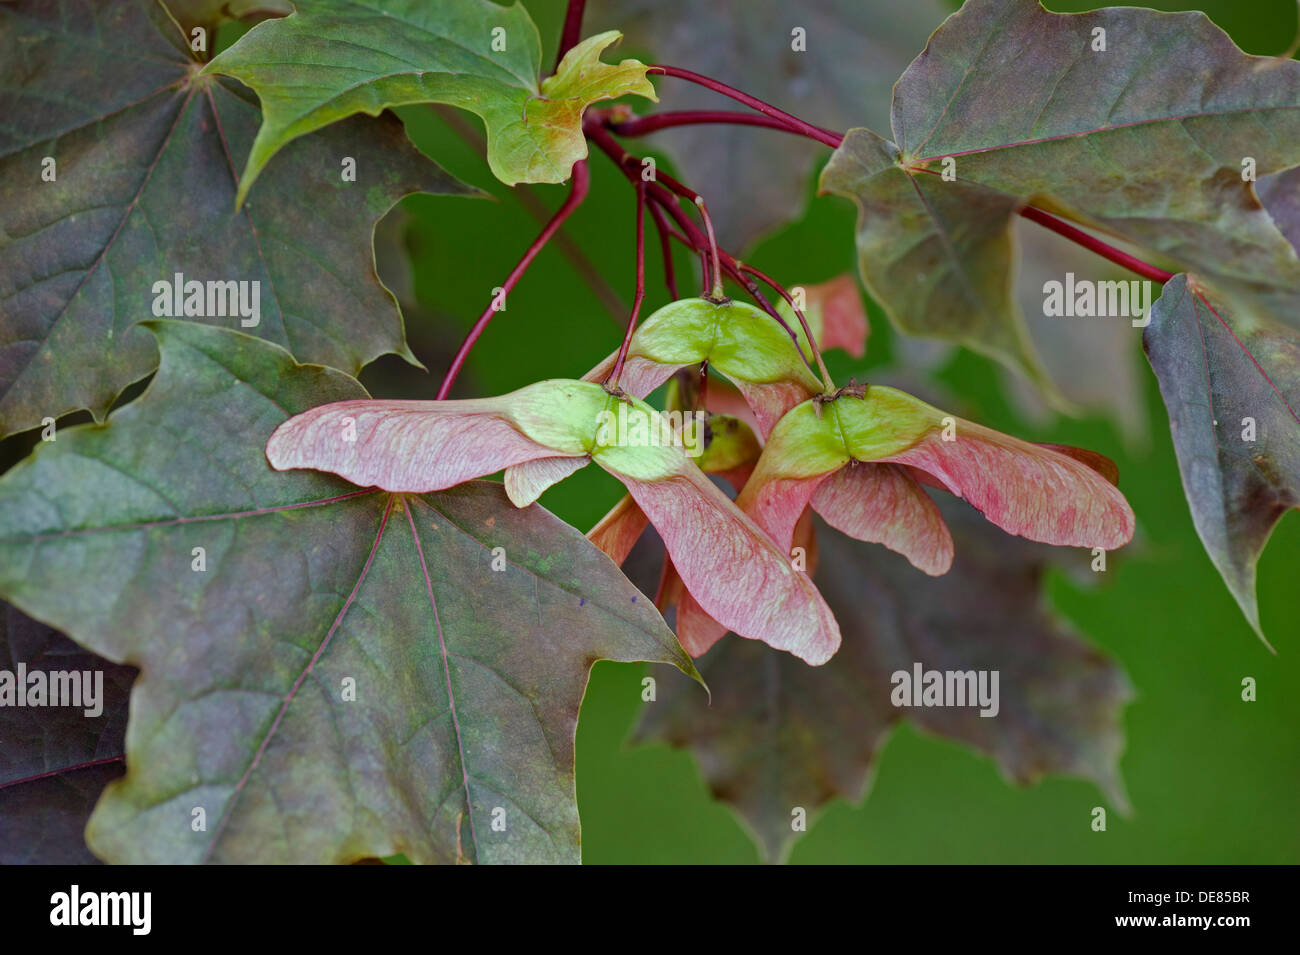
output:
<path id="1" fill-rule="evenodd" d="M 1091 780 L 1127 807 L 1118 759 L 1128 681 L 1044 605 L 1052 551 L 1002 534 L 961 502 L 937 502 L 958 538 L 953 569 L 926 577 L 884 548 L 816 530 L 815 579 L 844 644 L 826 667 L 728 637 L 701 661 L 711 706 L 667 686 L 637 728 L 641 742 L 689 748 L 714 796 L 784 859 L 797 833 L 835 798 L 861 799 L 889 728 L 911 720 L 993 756 L 1030 783 L 1046 773 Z M 894 708 L 892 674 L 998 670 L 998 711 Z"/>

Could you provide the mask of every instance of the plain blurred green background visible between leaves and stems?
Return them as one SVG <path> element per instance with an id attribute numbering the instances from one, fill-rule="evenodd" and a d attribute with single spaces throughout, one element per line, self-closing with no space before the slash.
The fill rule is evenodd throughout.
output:
<path id="1" fill-rule="evenodd" d="M 1053 0 L 1046 5 L 1076 12 L 1098 4 Z M 1149 5 L 1202 9 L 1251 53 L 1280 53 L 1296 34 L 1294 0 Z M 552 51 L 563 3 L 528 0 L 526 6 Z M 737 8 L 742 10 L 744 4 Z M 547 52 L 543 61 L 550 64 L 551 56 Z M 708 71 L 708 64 L 673 62 Z M 481 131 L 474 117 L 462 116 Z M 432 398 L 451 351 L 537 234 L 538 223 L 434 110 L 408 109 L 403 118 L 422 149 L 498 199 L 415 196 L 386 223 L 387 240 L 404 243 L 411 253 L 411 274 L 389 273 L 389 278 L 410 300 L 412 346 L 430 374 L 386 359 L 368 369 L 364 379 L 380 395 Z M 781 144 L 776 139 L 774 148 Z M 647 147 L 638 143 L 634 148 L 645 152 Z M 667 164 L 662 155 L 659 160 Z M 592 159 L 592 196 L 567 231 L 627 301 L 632 295 L 633 194 L 599 155 Z M 854 210 L 838 199 L 814 197 L 812 183 L 810 177 L 805 217 L 745 255 L 786 285 L 819 282 L 854 268 Z M 534 195 L 554 208 L 564 187 L 538 187 Z M 692 264 L 684 255 L 677 264 L 679 279 L 689 290 Z M 649 298 L 642 314 L 667 300 L 660 277 L 650 231 Z M 871 320 L 866 360 L 855 363 L 841 352 L 828 356 L 837 379 L 870 378 L 870 369 L 890 360 L 896 339 L 874 305 Z M 508 309 L 494 318 L 458 390 L 460 395 L 498 394 L 538 378 L 581 376 L 616 347 L 619 335 L 614 316 L 590 283 L 552 244 L 511 294 Z M 1089 812 L 1104 800 L 1091 783 L 1053 777 L 1018 789 L 1000 777 L 991 759 L 905 725 L 885 747 L 864 804 L 832 803 L 796 845 L 792 861 L 1300 861 L 1300 621 L 1288 611 L 1295 599 L 1291 587 L 1300 577 L 1300 516 L 1291 513 L 1282 521 L 1260 563 L 1260 604 L 1265 631 L 1278 648 L 1274 656 L 1242 617 L 1196 538 L 1167 418 L 1138 333 L 1130 359 L 1140 364 L 1149 422 L 1148 440 L 1136 446 L 1126 444 L 1102 418 L 1034 426 L 1013 411 L 996 369 L 971 353 L 959 353 L 940 378 L 967 401 L 963 411 L 984 424 L 1034 440 L 1096 448 L 1119 464 L 1122 487 L 1138 513 L 1140 546 L 1115 555 L 1101 586 L 1083 590 L 1053 576 L 1049 596 L 1080 633 L 1121 661 L 1138 690 L 1124 713 L 1122 760 L 1132 817 L 1112 812 L 1108 832 L 1095 833 Z M 1095 369 L 1097 376 L 1113 373 Z M 612 478 L 586 468 L 552 489 L 543 504 L 586 529 L 620 494 Z M 1242 680 L 1248 676 L 1258 682 L 1254 703 L 1240 699 Z M 598 664 L 582 707 L 577 790 L 585 860 L 755 861 L 745 832 L 724 806 L 710 799 L 686 752 L 624 745 L 641 707 L 653 706 L 641 702 L 640 678 L 638 667 Z"/>

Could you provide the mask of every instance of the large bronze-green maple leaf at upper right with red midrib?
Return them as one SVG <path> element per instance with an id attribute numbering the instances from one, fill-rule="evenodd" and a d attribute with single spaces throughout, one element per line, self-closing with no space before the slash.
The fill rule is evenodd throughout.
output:
<path id="1" fill-rule="evenodd" d="M 968 0 L 898 81 L 892 126 L 850 130 L 822 188 L 858 204 L 863 281 L 905 331 L 1046 383 L 1011 296 L 1030 204 L 1256 307 L 1300 287 L 1243 177 L 1300 164 L 1300 64 L 1245 56 L 1201 13 Z"/>

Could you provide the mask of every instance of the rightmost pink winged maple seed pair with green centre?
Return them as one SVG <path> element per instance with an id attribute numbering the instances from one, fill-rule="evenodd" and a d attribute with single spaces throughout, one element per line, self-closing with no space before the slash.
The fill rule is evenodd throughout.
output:
<path id="1" fill-rule="evenodd" d="M 1031 444 L 876 385 L 781 418 L 736 503 L 786 550 L 811 505 L 832 528 L 939 576 L 953 539 L 922 483 L 966 498 L 1011 534 L 1113 550 L 1134 534 L 1113 476 L 1093 452 Z"/>

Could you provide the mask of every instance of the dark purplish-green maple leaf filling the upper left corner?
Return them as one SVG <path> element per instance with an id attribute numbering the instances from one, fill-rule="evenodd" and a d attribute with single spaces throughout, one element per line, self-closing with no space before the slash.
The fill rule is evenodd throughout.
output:
<path id="1" fill-rule="evenodd" d="M 248 330 L 304 361 L 415 361 L 374 270 L 374 222 L 410 192 L 473 190 L 391 116 L 358 117 L 295 144 L 237 210 L 233 164 L 259 113 L 198 73 L 187 36 L 153 0 L 0 3 L 0 435 L 82 408 L 101 418 L 150 374 L 157 350 L 133 325 L 177 273 L 259 282 Z"/>

